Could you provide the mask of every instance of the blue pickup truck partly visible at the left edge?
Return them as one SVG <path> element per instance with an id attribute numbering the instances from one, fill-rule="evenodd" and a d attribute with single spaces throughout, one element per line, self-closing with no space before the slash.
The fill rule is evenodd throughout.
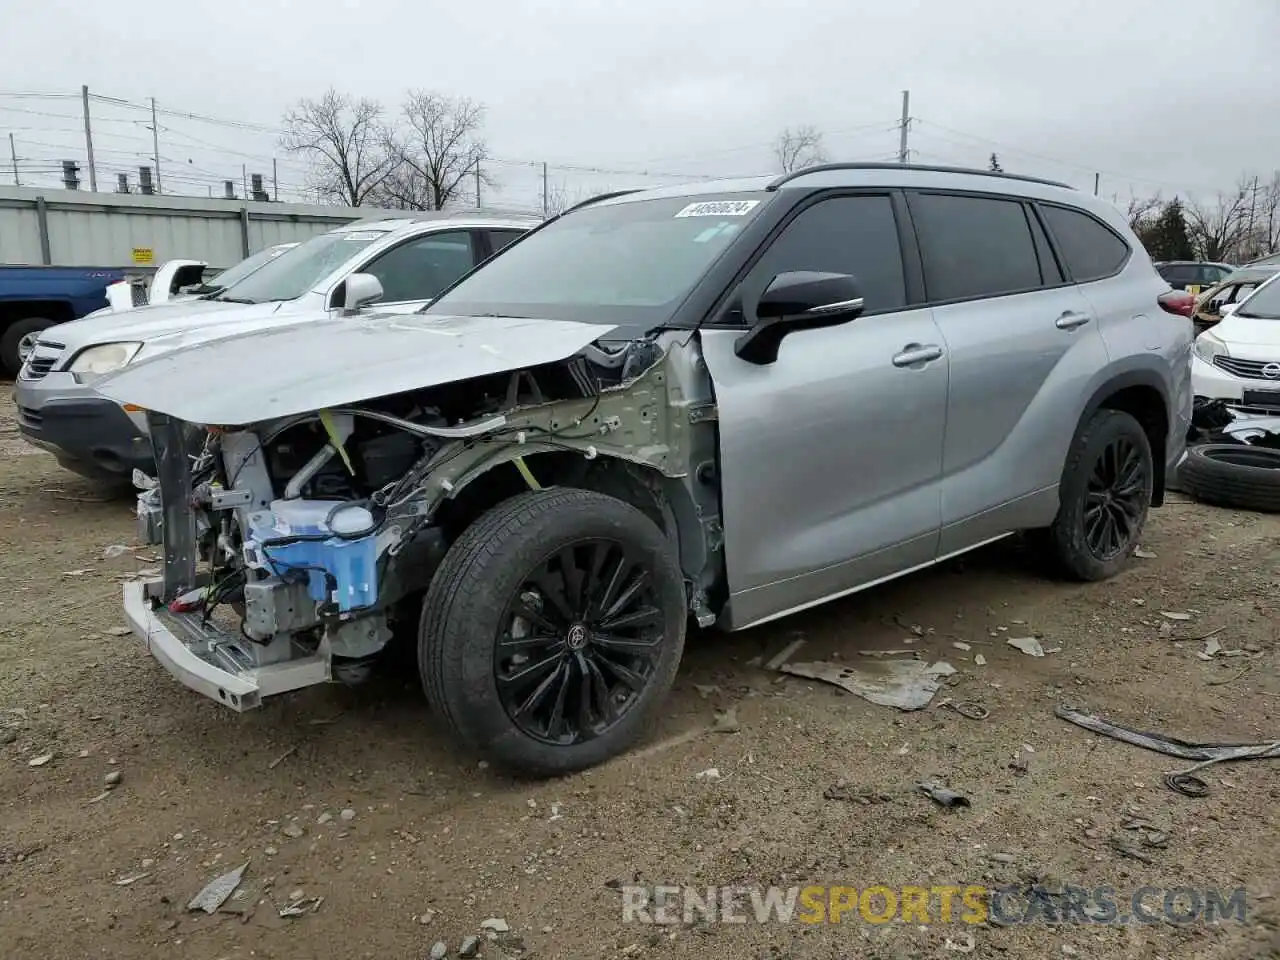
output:
<path id="1" fill-rule="evenodd" d="M 114 266 L 0 266 L 0 372 L 15 376 L 46 326 L 106 306 L 106 288 L 123 280 Z"/>

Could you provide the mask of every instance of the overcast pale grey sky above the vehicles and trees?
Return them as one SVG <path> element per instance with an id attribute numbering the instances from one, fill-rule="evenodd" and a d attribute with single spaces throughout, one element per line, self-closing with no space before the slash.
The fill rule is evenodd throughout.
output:
<path id="1" fill-rule="evenodd" d="M 911 159 L 1130 193 L 1212 196 L 1280 168 L 1280 0 L 41 0 L 5 13 L 0 138 L 26 183 L 83 163 L 79 87 L 166 111 L 166 192 L 306 179 L 278 147 L 283 111 L 329 86 L 394 110 L 407 88 L 488 108 L 507 206 L 767 173 L 787 125 L 840 160 Z M 32 93 L 65 95 L 31 97 Z M 72 96 L 74 95 L 74 96 Z M 148 114 L 92 104 L 99 188 L 151 152 Z M 6 156 L 8 143 L 0 141 Z M 593 173 L 600 170 L 603 173 Z M 6 170 L 8 172 L 8 170 Z M 86 179 L 87 173 L 82 174 Z M 12 182 L 5 177 L 4 182 Z M 489 197 L 486 197 L 488 202 Z"/>

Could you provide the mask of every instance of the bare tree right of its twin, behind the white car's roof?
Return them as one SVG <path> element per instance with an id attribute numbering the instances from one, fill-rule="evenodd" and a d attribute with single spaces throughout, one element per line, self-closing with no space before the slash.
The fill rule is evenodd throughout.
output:
<path id="1" fill-rule="evenodd" d="M 445 204 L 471 196 L 493 180 L 484 170 L 484 106 L 466 97 L 411 91 L 401 108 L 404 128 L 384 134 L 384 148 L 394 169 L 381 186 L 387 201 L 411 210 L 443 210 Z"/>

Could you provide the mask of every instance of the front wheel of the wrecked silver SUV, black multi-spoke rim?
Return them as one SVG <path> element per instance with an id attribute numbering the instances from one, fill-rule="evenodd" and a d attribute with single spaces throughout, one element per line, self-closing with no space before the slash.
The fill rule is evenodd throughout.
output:
<path id="1" fill-rule="evenodd" d="M 564 614 L 559 586 L 576 608 Z M 529 616 L 512 620 L 516 608 Z M 622 753 L 652 726 L 686 622 L 678 559 L 652 520 L 591 490 L 539 490 L 498 504 L 449 548 L 422 603 L 419 668 L 433 709 L 466 746 L 516 773 L 556 776 Z M 520 672 L 524 687 L 508 680 Z"/>

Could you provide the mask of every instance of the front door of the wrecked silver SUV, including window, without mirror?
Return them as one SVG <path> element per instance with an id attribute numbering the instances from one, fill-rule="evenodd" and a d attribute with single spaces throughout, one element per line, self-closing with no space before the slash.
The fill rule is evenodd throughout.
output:
<path id="1" fill-rule="evenodd" d="M 852 274 L 865 312 L 787 334 L 773 364 L 740 360 L 760 294 L 791 270 Z M 891 197 L 804 207 L 728 303 L 700 334 L 719 408 L 727 626 L 931 563 L 947 356 L 931 311 L 908 306 Z"/>

